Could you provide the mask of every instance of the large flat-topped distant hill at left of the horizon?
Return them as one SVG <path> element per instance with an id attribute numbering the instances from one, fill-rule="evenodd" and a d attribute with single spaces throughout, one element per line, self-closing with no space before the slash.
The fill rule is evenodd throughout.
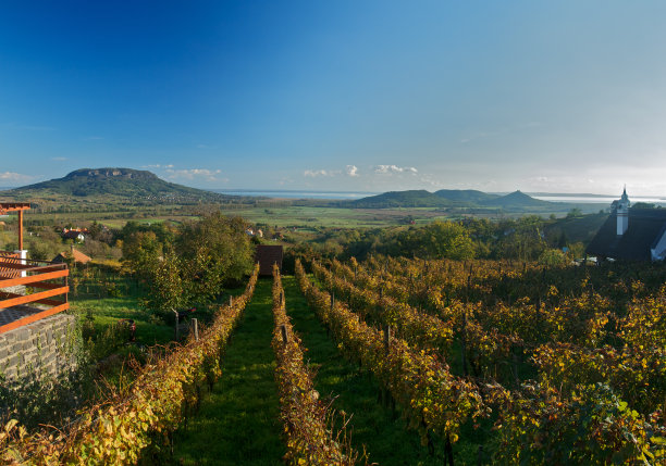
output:
<path id="1" fill-rule="evenodd" d="M 82 168 L 62 178 L 3 191 L 2 196 L 13 198 L 44 198 L 50 196 L 88 198 L 103 196 L 151 201 L 234 198 L 168 182 L 148 171 L 132 168 Z"/>

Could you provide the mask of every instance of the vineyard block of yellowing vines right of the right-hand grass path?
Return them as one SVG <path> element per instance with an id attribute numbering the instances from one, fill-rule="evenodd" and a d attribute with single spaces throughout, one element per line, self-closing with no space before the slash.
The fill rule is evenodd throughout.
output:
<path id="1" fill-rule="evenodd" d="M 299 266 L 301 287 L 341 348 L 424 443 L 446 442 L 451 464 L 465 425 L 485 439 L 479 458 L 485 449 L 508 464 L 666 463 L 663 267 L 311 266 L 319 287 Z"/>

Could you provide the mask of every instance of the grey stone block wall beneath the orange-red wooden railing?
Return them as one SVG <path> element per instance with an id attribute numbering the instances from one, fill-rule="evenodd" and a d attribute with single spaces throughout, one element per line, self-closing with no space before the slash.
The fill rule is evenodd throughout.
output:
<path id="1" fill-rule="evenodd" d="M 5 382 L 28 375 L 57 376 L 76 367 L 76 317 L 55 314 L 0 333 L 0 374 Z"/>

